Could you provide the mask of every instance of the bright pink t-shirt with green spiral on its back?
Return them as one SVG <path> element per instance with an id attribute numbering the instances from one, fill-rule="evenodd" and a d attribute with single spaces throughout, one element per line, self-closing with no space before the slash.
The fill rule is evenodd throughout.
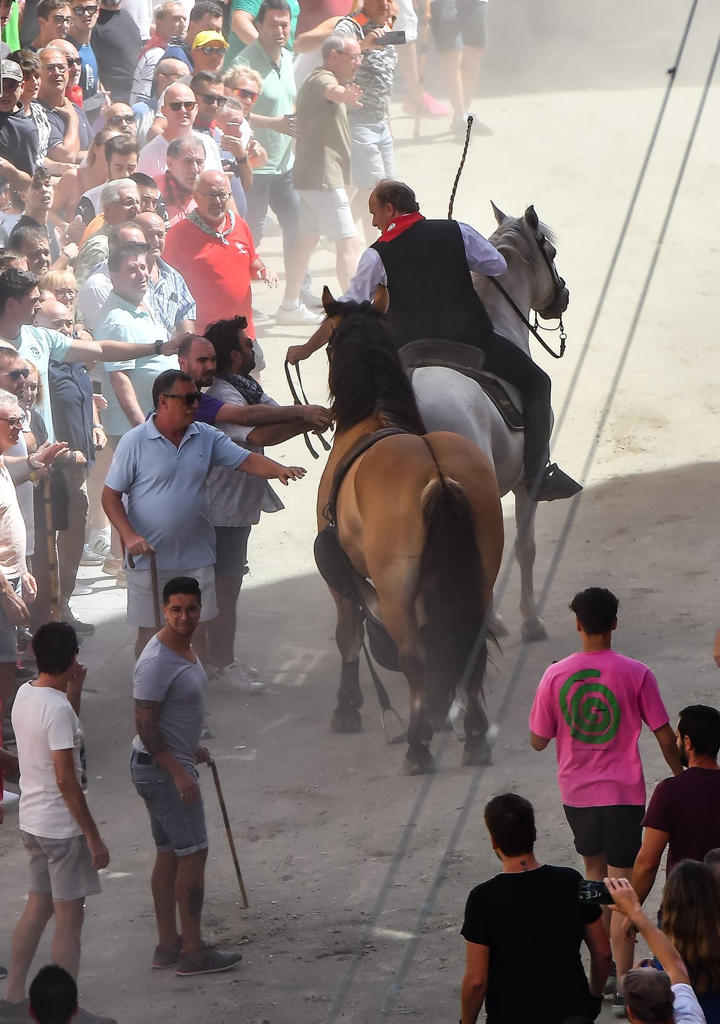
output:
<path id="1" fill-rule="evenodd" d="M 607 650 L 551 665 L 530 712 L 530 730 L 555 738 L 563 804 L 645 803 L 638 739 L 670 721 L 657 680 L 642 662 Z"/>

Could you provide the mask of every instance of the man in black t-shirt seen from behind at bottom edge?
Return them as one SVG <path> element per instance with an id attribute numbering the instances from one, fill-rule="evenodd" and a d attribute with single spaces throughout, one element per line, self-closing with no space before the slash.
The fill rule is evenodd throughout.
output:
<path id="1" fill-rule="evenodd" d="M 579 902 L 579 871 L 535 859 L 529 801 L 514 793 L 493 797 L 485 824 L 503 871 L 476 886 L 466 904 L 462 1024 L 475 1024 L 483 1002 L 486 1024 L 590 1024 L 612 963 L 600 906 Z"/>

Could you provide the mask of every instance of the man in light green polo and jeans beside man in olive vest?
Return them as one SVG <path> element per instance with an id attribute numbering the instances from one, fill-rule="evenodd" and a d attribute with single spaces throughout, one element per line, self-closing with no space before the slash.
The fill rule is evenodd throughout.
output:
<path id="1" fill-rule="evenodd" d="M 292 185 L 295 133 L 295 76 L 292 54 L 285 49 L 290 38 L 290 7 L 287 0 L 263 0 L 255 18 L 257 39 L 246 46 L 236 65 L 246 65 L 263 76 L 263 89 L 249 115 L 253 134 L 268 154 L 265 167 L 255 168 L 252 188 L 247 194 L 247 223 L 255 249 L 265 234 L 268 207 L 278 218 L 282 231 L 285 274 L 297 239 L 299 197 Z M 283 300 L 277 322 L 287 325 L 317 325 L 319 300 L 310 293 L 310 274 L 301 289 L 299 300 Z M 313 307 L 313 308 L 309 308 Z"/>

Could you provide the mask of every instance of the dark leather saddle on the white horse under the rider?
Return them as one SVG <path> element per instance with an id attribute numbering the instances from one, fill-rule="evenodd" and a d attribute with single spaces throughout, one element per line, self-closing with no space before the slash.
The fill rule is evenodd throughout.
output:
<path id="1" fill-rule="evenodd" d="M 480 348 L 466 345 L 462 341 L 423 338 L 403 345 L 400 349 L 400 361 L 410 377 L 412 371 L 421 367 L 445 367 L 470 377 L 480 385 L 511 430 L 524 429 L 519 398 L 511 395 L 515 388 L 483 370 L 485 356 Z"/>

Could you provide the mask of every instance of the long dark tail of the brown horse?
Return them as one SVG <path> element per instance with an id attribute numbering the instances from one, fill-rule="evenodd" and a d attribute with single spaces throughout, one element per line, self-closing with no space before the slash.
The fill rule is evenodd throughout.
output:
<path id="1" fill-rule="evenodd" d="M 436 731 L 447 717 L 487 611 L 485 573 L 468 496 L 439 466 L 438 471 L 439 477 L 423 493 L 425 544 L 419 561 L 428 714 Z M 482 673 L 486 658 L 483 642 L 474 671 Z"/>

